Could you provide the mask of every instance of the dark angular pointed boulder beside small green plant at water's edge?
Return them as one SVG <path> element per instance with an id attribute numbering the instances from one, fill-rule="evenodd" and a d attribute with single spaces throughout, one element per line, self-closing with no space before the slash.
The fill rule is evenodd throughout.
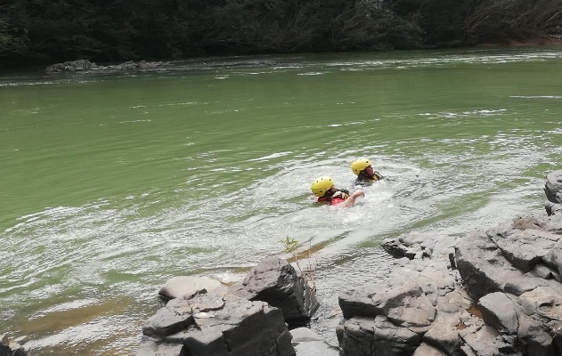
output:
<path id="1" fill-rule="evenodd" d="M 228 293 L 280 308 L 289 323 L 310 320 L 320 306 L 293 266 L 277 257 L 265 258 L 241 283 L 229 287 Z"/>

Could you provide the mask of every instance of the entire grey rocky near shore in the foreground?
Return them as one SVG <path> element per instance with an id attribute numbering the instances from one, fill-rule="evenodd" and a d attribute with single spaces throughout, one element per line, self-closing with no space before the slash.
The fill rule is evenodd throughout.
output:
<path id="1" fill-rule="evenodd" d="M 547 175 L 545 193 L 548 216 L 465 236 L 385 239 L 395 268 L 340 293 L 339 347 L 289 331 L 318 303 L 272 257 L 231 287 L 180 283 L 183 292 L 145 323 L 137 355 L 562 355 L 562 171 Z"/>

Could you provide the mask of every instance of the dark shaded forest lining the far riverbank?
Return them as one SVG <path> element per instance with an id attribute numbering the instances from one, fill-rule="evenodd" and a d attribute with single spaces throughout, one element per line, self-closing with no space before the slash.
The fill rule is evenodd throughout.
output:
<path id="1" fill-rule="evenodd" d="M 562 0 L 4 0 L 0 62 L 419 49 L 562 33 Z"/>

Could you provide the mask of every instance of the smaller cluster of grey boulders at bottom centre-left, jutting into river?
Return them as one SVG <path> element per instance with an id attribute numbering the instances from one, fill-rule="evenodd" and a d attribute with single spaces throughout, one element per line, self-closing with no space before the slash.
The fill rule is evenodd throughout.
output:
<path id="1" fill-rule="evenodd" d="M 291 343 L 286 322 L 310 320 L 320 305 L 300 274 L 277 257 L 230 287 L 179 277 L 159 294 L 170 300 L 144 323 L 137 356 L 294 356 L 296 346 L 333 352 L 319 339 Z"/>

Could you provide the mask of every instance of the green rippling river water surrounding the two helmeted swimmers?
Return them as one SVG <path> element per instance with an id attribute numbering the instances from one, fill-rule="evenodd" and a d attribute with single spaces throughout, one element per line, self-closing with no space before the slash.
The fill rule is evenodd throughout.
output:
<path id="1" fill-rule="evenodd" d="M 545 214 L 561 155 L 562 46 L 0 73 L 0 334 L 133 355 L 167 279 L 240 279 L 289 236 L 335 344 L 338 291 L 392 268 L 382 239 Z M 315 206 L 360 157 L 388 179 Z"/>

